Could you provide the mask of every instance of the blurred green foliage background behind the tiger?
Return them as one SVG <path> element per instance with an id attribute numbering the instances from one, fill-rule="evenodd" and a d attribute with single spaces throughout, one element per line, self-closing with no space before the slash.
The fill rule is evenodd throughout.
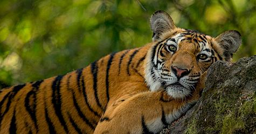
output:
<path id="1" fill-rule="evenodd" d="M 149 18 L 167 11 L 176 26 L 211 36 L 236 29 L 234 60 L 256 54 L 256 0 L 1 0 L 0 88 L 64 74 L 151 41 Z"/>

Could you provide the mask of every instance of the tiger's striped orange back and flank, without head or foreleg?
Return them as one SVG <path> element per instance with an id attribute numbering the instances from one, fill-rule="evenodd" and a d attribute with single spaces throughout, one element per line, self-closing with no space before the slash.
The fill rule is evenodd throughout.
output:
<path id="1" fill-rule="evenodd" d="M 92 133 L 108 102 L 147 90 L 141 66 L 148 47 L 113 53 L 63 76 L 1 90 L 0 132 Z"/>

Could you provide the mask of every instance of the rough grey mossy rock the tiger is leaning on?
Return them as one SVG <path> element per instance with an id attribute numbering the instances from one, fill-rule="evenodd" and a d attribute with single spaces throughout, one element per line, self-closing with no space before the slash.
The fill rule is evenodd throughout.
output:
<path id="1" fill-rule="evenodd" d="M 202 97 L 161 133 L 256 133 L 256 56 L 212 64 Z"/>

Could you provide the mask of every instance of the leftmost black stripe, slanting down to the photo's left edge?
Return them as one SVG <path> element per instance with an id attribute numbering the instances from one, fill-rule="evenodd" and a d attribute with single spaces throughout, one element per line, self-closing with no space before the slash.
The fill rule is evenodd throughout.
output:
<path id="1" fill-rule="evenodd" d="M 12 102 L 12 99 L 15 97 L 15 95 L 18 93 L 19 90 L 21 90 L 23 87 L 25 86 L 25 84 L 23 85 L 17 85 L 15 87 L 13 87 L 12 91 L 10 93 L 8 93 L 8 102 L 6 104 L 6 107 L 5 107 L 5 110 L 4 110 L 4 113 L 1 115 L 0 117 L 0 124 L 2 122 L 2 119 L 4 117 L 4 115 L 9 111 L 9 108 L 10 108 L 10 105 L 11 105 L 11 102 Z M 7 95 L 5 95 L 7 96 Z M 5 100 L 5 96 L 4 96 L 4 100 Z M 1 102 L 4 102 L 4 100 L 2 100 Z M 2 107 L 2 106 L 1 106 Z"/>

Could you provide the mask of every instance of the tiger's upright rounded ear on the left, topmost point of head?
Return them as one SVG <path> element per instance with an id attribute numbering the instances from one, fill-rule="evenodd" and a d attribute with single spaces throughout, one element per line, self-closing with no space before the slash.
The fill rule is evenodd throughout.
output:
<path id="1" fill-rule="evenodd" d="M 161 40 L 161 35 L 176 28 L 174 21 L 167 12 L 158 10 L 150 18 L 151 30 L 153 31 L 153 41 Z"/>

